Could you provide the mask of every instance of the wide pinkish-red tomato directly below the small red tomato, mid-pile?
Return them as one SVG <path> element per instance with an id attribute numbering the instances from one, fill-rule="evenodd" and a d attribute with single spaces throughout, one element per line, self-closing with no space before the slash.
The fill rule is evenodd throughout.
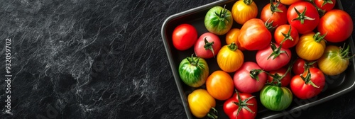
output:
<path id="1" fill-rule="evenodd" d="M 256 52 L 256 63 L 266 71 L 280 69 L 291 60 L 291 51 L 271 43 L 271 47 Z"/>

